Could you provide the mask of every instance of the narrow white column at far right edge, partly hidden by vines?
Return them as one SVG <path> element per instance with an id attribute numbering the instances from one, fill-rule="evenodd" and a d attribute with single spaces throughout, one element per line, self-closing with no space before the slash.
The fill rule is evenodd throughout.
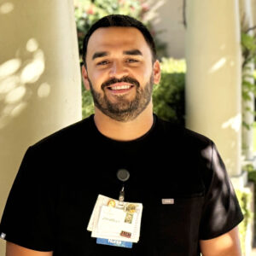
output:
<path id="1" fill-rule="evenodd" d="M 240 20 L 242 31 L 246 32 L 248 28 L 253 27 L 253 9 L 251 0 L 240 0 Z M 248 35 L 253 36 L 253 30 L 248 32 Z M 253 79 L 254 63 L 251 61 L 247 64 L 243 71 L 245 81 L 250 84 L 254 84 Z M 242 151 L 245 155 L 246 160 L 253 160 L 253 121 L 254 121 L 254 94 L 253 91 L 248 93 L 250 100 L 242 99 L 242 119 L 243 121 L 251 126 L 248 129 L 243 125 L 242 127 Z"/>

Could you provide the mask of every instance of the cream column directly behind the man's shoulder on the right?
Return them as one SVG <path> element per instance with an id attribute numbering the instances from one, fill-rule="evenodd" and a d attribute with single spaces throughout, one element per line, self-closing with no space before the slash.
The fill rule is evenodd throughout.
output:
<path id="1" fill-rule="evenodd" d="M 186 125 L 241 174 L 241 49 L 237 0 L 187 1 Z"/>

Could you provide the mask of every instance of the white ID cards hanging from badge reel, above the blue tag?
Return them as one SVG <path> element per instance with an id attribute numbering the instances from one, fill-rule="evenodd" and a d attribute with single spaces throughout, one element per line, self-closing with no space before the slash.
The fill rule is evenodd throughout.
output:
<path id="1" fill-rule="evenodd" d="M 143 204 L 119 201 L 98 195 L 87 230 L 92 237 L 114 241 L 139 241 Z"/>

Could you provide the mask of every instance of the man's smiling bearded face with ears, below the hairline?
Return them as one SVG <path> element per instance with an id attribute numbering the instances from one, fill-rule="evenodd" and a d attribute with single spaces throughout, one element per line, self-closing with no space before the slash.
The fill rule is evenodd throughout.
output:
<path id="1" fill-rule="evenodd" d="M 151 102 L 153 84 L 160 79 L 159 62 L 143 34 L 133 27 L 99 28 L 91 35 L 83 67 L 86 89 L 95 106 L 110 118 L 136 119 Z"/>

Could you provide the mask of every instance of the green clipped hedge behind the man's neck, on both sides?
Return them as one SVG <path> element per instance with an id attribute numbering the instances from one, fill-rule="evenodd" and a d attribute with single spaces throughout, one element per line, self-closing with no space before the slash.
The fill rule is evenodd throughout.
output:
<path id="1" fill-rule="evenodd" d="M 184 60 L 162 58 L 160 84 L 154 85 L 154 113 L 161 119 L 184 124 L 184 86 L 186 64 Z M 82 111 L 83 119 L 94 113 L 90 91 L 83 86 Z"/>

